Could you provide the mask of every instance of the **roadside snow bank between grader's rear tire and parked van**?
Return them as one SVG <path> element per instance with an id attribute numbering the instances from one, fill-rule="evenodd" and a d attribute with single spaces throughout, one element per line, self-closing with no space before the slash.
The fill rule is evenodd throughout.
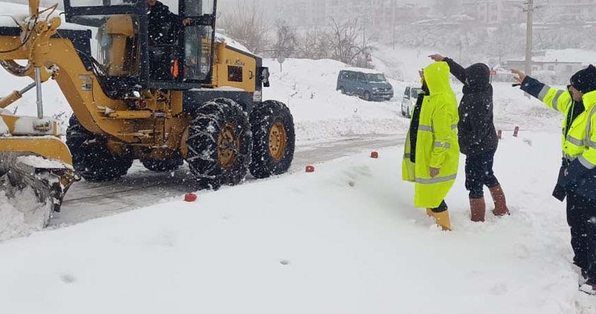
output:
<path id="1" fill-rule="evenodd" d="M 271 72 L 271 87 L 263 100 L 288 104 L 296 124 L 298 141 L 339 138 L 362 134 L 401 133 L 409 120 L 401 118 L 401 86 L 389 102 L 367 102 L 336 91 L 338 74 L 346 64 L 329 59 L 286 59 L 280 71 L 274 59 L 263 64 Z"/>

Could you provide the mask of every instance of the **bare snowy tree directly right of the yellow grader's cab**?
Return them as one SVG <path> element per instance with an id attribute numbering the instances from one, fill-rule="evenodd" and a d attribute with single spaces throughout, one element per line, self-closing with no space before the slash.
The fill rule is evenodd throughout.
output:
<path id="1" fill-rule="evenodd" d="M 234 8 L 222 15 L 222 26 L 228 35 L 252 53 L 267 49 L 269 26 L 263 16 L 263 8 L 256 1 L 236 0 Z"/>

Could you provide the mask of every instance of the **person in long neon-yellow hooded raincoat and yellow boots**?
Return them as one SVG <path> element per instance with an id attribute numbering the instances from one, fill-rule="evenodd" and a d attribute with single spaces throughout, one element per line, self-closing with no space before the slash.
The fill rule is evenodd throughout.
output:
<path id="1" fill-rule="evenodd" d="M 459 166 L 459 115 L 449 70 L 446 62 L 437 62 L 421 73 L 426 95 L 414 107 L 402 164 L 403 180 L 416 183 L 414 206 L 426 207 L 443 230 L 451 230 L 445 197 Z"/>

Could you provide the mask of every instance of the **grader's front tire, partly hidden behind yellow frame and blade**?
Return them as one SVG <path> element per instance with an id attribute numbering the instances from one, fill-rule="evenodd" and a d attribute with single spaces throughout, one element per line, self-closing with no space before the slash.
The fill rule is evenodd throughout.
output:
<path id="1" fill-rule="evenodd" d="M 73 157 L 74 169 L 87 181 L 116 180 L 132 166 L 132 156 L 114 156 L 105 138 L 87 131 L 74 115 L 67 129 L 67 146 Z"/>

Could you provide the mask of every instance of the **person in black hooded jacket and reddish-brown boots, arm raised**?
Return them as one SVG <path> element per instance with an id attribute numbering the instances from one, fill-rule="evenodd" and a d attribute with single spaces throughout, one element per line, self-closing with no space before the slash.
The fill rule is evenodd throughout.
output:
<path id="1" fill-rule="evenodd" d="M 486 64 L 463 68 L 441 55 L 430 55 L 436 62 L 447 62 L 451 74 L 464 84 L 464 97 L 459 104 L 459 149 L 466 155 L 466 190 L 470 191 L 472 221 L 484 221 L 486 203 L 484 185 L 489 187 L 495 204 L 493 214 L 509 214 L 505 193 L 493 173 L 493 160 L 498 136 L 493 122 L 493 86 L 491 71 Z"/>

